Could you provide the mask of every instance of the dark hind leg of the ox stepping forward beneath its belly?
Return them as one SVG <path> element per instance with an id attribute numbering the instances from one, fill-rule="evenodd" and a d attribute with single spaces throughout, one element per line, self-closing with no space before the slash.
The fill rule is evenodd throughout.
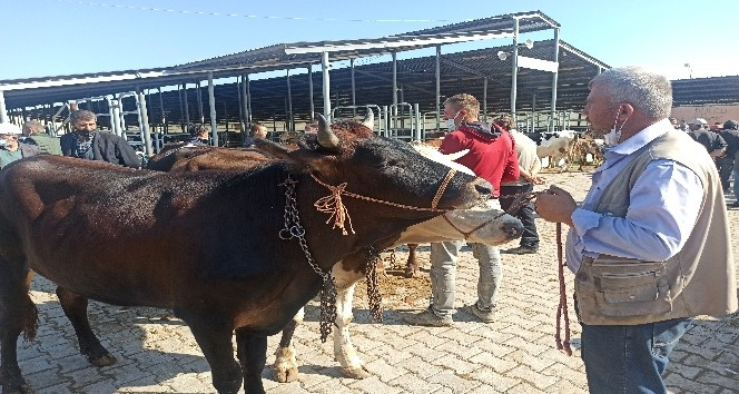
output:
<path id="1" fill-rule="evenodd" d="M 57 297 L 65 315 L 72 323 L 79 343 L 79 353 L 87 356 L 87 361 L 95 366 L 116 364 L 116 357 L 100 344 L 90 328 L 90 321 L 87 318 L 87 298 L 61 286 L 57 287 Z"/>

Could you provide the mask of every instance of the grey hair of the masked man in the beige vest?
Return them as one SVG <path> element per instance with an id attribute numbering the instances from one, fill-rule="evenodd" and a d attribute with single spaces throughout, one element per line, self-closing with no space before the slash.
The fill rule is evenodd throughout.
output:
<path id="1" fill-rule="evenodd" d="M 613 106 L 628 102 L 659 120 L 672 110 L 672 85 L 662 75 L 637 66 L 605 70 L 590 81 L 601 85 Z"/>

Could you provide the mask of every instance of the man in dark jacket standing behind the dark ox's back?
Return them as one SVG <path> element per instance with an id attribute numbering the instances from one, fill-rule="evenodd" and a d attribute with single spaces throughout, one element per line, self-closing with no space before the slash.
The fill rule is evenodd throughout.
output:
<path id="1" fill-rule="evenodd" d="M 88 160 L 101 160 L 130 168 L 141 167 L 134 148 L 110 132 L 98 131 L 97 117 L 86 109 L 73 111 L 69 122 L 75 129 L 61 136 L 61 152 L 65 156 Z"/>

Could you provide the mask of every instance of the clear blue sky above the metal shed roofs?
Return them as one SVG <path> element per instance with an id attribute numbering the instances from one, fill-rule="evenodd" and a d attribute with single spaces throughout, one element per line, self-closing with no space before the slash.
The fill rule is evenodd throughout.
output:
<path id="1" fill-rule="evenodd" d="M 166 67 L 535 10 L 560 22 L 562 40 L 610 66 L 672 79 L 739 75 L 739 0 L 0 0 L 0 79 Z"/>

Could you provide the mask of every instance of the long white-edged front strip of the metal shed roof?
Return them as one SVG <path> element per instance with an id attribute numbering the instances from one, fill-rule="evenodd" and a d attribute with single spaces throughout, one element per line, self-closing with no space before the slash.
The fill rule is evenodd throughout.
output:
<path id="1" fill-rule="evenodd" d="M 522 33 L 559 28 L 559 23 L 539 11 L 511 13 L 377 39 L 280 43 L 167 68 L 4 80 L 0 81 L 0 92 L 8 108 L 31 107 L 193 83 L 206 79 L 208 72 L 213 78 L 225 78 L 309 67 L 318 63 L 321 58 L 317 55 L 325 51 L 329 51 L 329 61 L 338 61 L 443 43 L 511 37 L 513 20 L 520 20 L 519 32 Z"/>

